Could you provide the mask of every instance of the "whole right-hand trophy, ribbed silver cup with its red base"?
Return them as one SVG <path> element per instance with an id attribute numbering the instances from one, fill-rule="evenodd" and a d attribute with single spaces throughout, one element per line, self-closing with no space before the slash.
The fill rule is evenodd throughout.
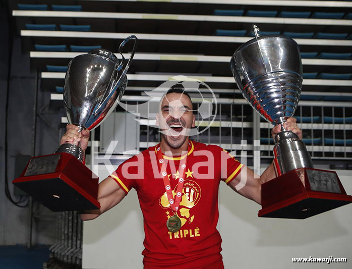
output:
<path id="1" fill-rule="evenodd" d="M 304 142 L 284 128 L 302 91 L 298 44 L 285 36 L 260 36 L 241 45 L 230 68 L 250 105 L 261 117 L 281 126 L 274 137 L 276 178 L 262 185 L 259 217 L 305 219 L 352 201 L 335 172 L 313 168 Z"/>

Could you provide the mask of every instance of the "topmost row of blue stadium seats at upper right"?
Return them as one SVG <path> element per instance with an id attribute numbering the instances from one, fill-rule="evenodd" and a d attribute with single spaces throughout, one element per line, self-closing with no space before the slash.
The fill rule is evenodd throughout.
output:
<path id="1" fill-rule="evenodd" d="M 345 12 L 312 12 L 310 11 L 258 11 L 248 10 L 214 10 L 216 16 L 247 16 L 247 17 L 281 17 L 281 18 L 312 18 L 312 19 L 352 19 L 352 13 Z"/>

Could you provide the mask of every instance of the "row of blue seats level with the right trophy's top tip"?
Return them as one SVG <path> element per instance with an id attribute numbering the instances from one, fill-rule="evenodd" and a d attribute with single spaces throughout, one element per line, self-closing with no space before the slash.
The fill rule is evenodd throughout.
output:
<path id="1" fill-rule="evenodd" d="M 248 33 L 248 34 L 247 34 Z M 260 31 L 260 35 L 280 35 L 280 31 Z M 217 29 L 214 35 L 218 36 L 252 36 L 254 34 L 252 31 L 247 30 L 221 30 Z M 352 39 L 352 34 L 348 33 L 322 33 L 322 32 L 308 32 L 308 33 L 298 33 L 298 32 L 282 32 L 282 35 L 291 38 L 318 38 L 318 39 Z"/>

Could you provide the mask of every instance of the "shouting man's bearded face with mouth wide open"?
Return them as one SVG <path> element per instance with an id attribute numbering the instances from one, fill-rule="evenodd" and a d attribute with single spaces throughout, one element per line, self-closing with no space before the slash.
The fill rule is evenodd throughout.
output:
<path id="1" fill-rule="evenodd" d="M 195 127 L 192 109 L 192 102 L 185 94 L 169 93 L 162 99 L 156 125 L 170 147 L 179 148 L 187 139 L 189 130 Z"/>

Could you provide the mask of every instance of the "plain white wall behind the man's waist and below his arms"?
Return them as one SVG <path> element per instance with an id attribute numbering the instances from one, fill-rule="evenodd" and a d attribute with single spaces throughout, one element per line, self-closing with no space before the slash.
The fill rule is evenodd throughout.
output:
<path id="1" fill-rule="evenodd" d="M 345 173 L 347 172 L 347 173 Z M 348 174 L 349 173 L 349 174 Z M 338 171 L 352 194 L 352 171 Z M 260 205 L 220 184 L 219 225 L 226 268 L 351 268 L 352 205 L 306 220 L 258 218 Z M 142 268 L 142 214 L 131 191 L 121 204 L 84 223 L 83 268 Z M 292 257 L 345 257 L 347 263 L 292 263 Z"/>

